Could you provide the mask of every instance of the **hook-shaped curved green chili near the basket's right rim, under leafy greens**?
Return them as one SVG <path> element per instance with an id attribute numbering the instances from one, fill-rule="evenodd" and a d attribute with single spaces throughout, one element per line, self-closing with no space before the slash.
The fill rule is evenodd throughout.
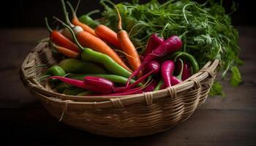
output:
<path id="1" fill-rule="evenodd" d="M 173 58 L 173 60 L 176 62 L 176 60 L 178 58 L 183 58 L 186 61 L 189 61 L 189 63 L 192 66 L 192 70 L 193 70 L 193 74 L 197 73 L 199 71 L 199 65 L 197 64 L 197 60 L 194 58 L 193 55 L 189 54 L 189 53 L 184 53 L 184 52 L 176 52 L 173 53 L 170 58 Z"/>

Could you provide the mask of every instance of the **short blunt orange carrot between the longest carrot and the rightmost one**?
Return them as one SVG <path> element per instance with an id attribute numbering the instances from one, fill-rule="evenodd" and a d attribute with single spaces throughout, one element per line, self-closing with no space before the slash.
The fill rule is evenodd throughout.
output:
<path id="1" fill-rule="evenodd" d="M 119 40 L 117 38 L 117 34 L 115 31 L 112 31 L 112 29 L 102 24 L 97 26 L 94 29 L 94 31 L 100 39 L 103 39 L 106 42 L 109 42 L 111 45 L 115 46 L 116 48 L 121 49 L 121 45 L 119 43 Z"/>

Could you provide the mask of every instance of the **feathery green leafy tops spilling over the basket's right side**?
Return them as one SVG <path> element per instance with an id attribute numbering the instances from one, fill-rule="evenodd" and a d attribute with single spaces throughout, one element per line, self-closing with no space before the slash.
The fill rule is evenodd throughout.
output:
<path id="1" fill-rule="evenodd" d="M 101 1 L 105 7 L 102 12 L 104 23 L 115 30 L 118 21 L 116 11 L 108 7 L 105 1 Z M 144 48 L 151 34 L 158 33 L 165 38 L 182 36 L 182 51 L 194 55 L 200 67 L 209 60 L 219 58 L 222 77 L 231 70 L 231 85 L 236 86 L 241 82 L 238 31 L 231 25 L 229 15 L 225 14 L 222 1 L 220 4 L 213 0 L 198 4 L 191 0 L 170 0 L 159 4 L 157 0 L 151 0 L 139 4 L 134 0 L 116 6 L 121 12 L 123 27 L 129 32 L 135 46 L 140 48 L 140 53 L 143 53 L 141 48 Z M 236 10 L 236 5 L 232 9 Z"/>

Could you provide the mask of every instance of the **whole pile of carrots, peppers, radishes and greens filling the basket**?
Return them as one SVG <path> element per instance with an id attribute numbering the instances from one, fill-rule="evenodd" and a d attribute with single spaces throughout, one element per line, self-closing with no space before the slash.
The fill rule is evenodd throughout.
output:
<path id="1" fill-rule="evenodd" d="M 105 7 L 99 20 L 91 18 L 98 10 L 78 18 L 78 6 L 73 9 L 64 0 L 65 20 L 53 17 L 62 29 L 53 30 L 45 19 L 49 44 L 63 58 L 39 80 L 47 77 L 59 93 L 121 96 L 158 91 L 187 80 L 215 58 L 223 78 L 231 71 L 231 85 L 241 82 L 238 32 L 222 2 L 99 3 Z M 222 87 L 215 82 L 211 95 L 219 94 Z"/>

